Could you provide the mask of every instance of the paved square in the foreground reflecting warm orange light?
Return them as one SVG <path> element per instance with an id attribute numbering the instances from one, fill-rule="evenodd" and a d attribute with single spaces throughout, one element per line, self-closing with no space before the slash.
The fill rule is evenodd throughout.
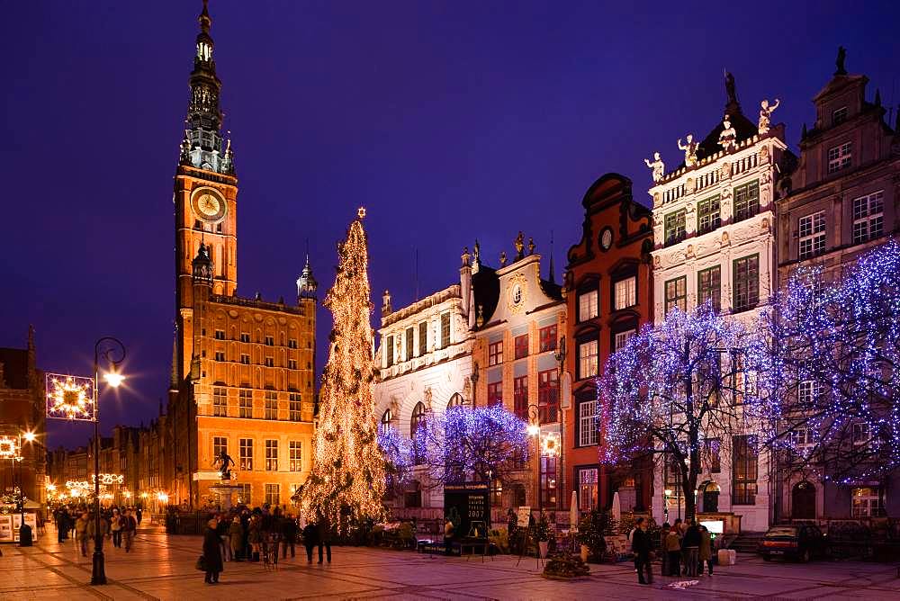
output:
<path id="1" fill-rule="evenodd" d="M 200 547 L 199 536 L 141 529 L 130 553 L 105 545 L 109 584 L 90 587 L 90 556 L 81 557 L 72 541 L 58 544 L 50 529 L 34 547 L 2 547 L 0 599 L 900 599 L 896 566 L 855 561 L 798 565 L 741 556 L 680 591 L 667 587 L 686 579 L 638 585 L 627 564 L 592 565 L 590 578 L 560 582 L 541 578 L 534 558 L 517 566 L 509 556 L 482 562 L 354 547 L 335 547 L 331 565 L 307 565 L 301 553 L 276 571 L 228 562 L 220 584 L 210 586 L 193 568 Z"/>

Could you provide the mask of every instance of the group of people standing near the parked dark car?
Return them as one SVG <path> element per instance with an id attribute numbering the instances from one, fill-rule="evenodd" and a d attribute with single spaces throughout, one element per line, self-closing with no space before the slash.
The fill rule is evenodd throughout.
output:
<path id="1" fill-rule="evenodd" d="M 647 523 L 643 517 L 635 520 L 635 529 L 630 534 L 631 548 L 635 553 L 635 571 L 640 584 L 653 584 L 653 540 L 647 534 Z M 675 520 L 662 525 L 660 535 L 663 576 L 702 576 L 704 566 L 713 575 L 713 538 L 705 525 L 694 524 L 690 518 Z M 683 570 L 682 570 L 683 568 Z"/>

